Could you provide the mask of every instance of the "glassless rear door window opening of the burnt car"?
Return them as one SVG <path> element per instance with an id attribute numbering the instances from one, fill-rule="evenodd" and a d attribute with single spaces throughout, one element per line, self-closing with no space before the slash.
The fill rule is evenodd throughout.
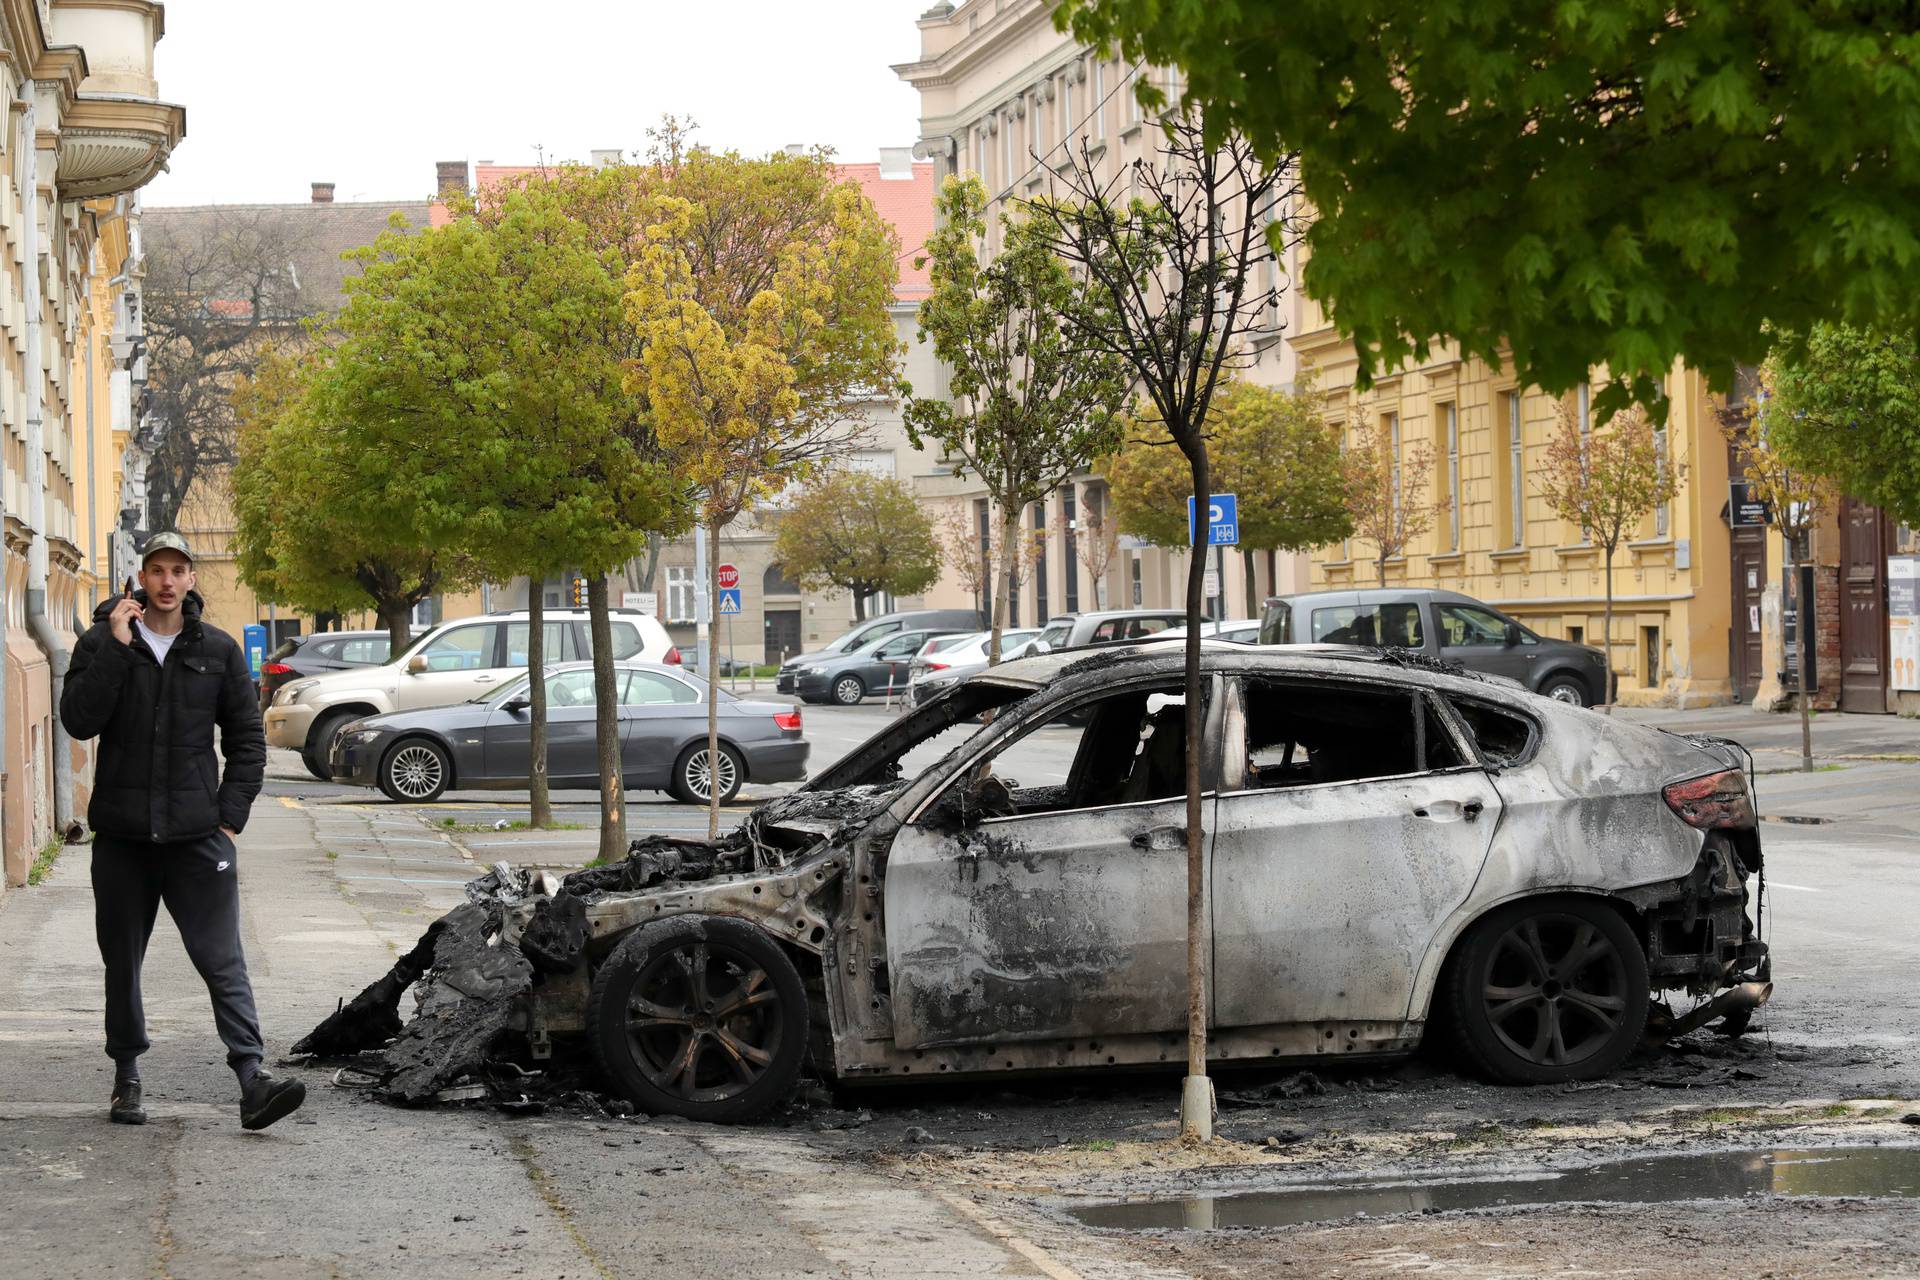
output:
<path id="1" fill-rule="evenodd" d="M 1315 787 L 1467 764 L 1425 697 L 1350 685 L 1248 681 L 1248 787 Z"/>

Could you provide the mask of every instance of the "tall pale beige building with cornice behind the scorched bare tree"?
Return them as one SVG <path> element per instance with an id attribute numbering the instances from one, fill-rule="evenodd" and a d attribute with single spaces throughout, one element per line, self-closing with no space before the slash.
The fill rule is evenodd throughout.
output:
<path id="1" fill-rule="evenodd" d="M 1129 65 L 1081 48 L 1054 29 L 1052 6 L 1044 0 L 935 4 L 918 25 L 920 59 L 895 67 L 920 92 L 916 154 L 933 161 L 935 180 L 956 173 L 985 180 L 995 228 L 989 249 L 998 244 L 1000 213 L 1044 196 L 1056 184 L 1056 169 L 1081 148 L 1102 178 L 1125 173 L 1135 159 L 1154 159 L 1160 132 L 1133 96 L 1135 77 L 1152 77 L 1177 94 L 1175 71 Z M 1294 368 L 1294 353 L 1275 328 L 1246 353 L 1238 376 L 1284 386 Z M 925 386 L 939 393 L 945 382 Z M 979 482 L 937 466 L 918 480 L 918 487 L 939 514 L 958 510 L 962 520 L 979 526 L 985 505 Z M 1091 512 L 1108 512 L 1106 486 L 1091 472 L 1023 512 L 1027 528 L 1046 532 L 1046 551 L 1031 581 L 1014 597 L 1016 626 L 1039 626 L 1060 612 L 1156 608 L 1185 599 L 1185 547 L 1160 549 L 1123 537 L 1117 555 L 1096 576 L 1085 555 L 1094 539 Z M 998 512 L 989 512 L 989 522 L 996 524 Z M 1306 585 L 1306 557 L 1254 551 L 1252 589 L 1240 558 L 1225 557 L 1227 618 L 1260 616 L 1261 599 Z M 950 570 L 927 595 L 937 606 L 975 599 L 977 593 Z"/>

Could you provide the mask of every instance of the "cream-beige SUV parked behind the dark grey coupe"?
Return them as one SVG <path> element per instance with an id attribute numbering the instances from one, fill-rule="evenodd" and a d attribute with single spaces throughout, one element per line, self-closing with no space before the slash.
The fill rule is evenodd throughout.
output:
<path id="1" fill-rule="evenodd" d="M 326 756 L 342 725 L 384 712 L 453 706 L 497 689 L 526 670 L 524 612 L 444 622 L 380 666 L 309 676 L 282 685 L 265 710 L 267 741 L 300 752 L 307 771 L 326 781 Z M 553 664 L 593 656 L 588 612 L 545 610 L 545 652 Z M 614 660 L 680 662 L 666 628 L 639 610 L 612 614 Z"/>

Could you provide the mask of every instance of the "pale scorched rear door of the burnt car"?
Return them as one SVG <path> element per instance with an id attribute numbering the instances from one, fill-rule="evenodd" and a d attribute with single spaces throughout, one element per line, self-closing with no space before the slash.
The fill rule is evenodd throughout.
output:
<path id="1" fill-rule="evenodd" d="M 1371 685 L 1417 699 L 1465 764 L 1302 787 L 1252 787 L 1244 771 L 1244 683 L 1250 679 Z M 1432 948 L 1440 946 L 1448 921 L 1473 896 L 1486 867 L 1505 808 L 1492 770 L 1446 699 L 1417 683 L 1363 674 L 1238 670 L 1225 691 L 1223 748 L 1227 743 L 1236 750 L 1227 752 L 1221 771 L 1208 869 L 1212 967 L 1223 998 L 1210 1002 L 1210 1023 L 1229 1031 L 1350 1023 L 1348 1040 L 1354 1042 L 1361 1027 L 1373 1023 L 1392 1040 L 1392 1025 L 1411 1017 Z M 1336 812 L 1319 818 L 1306 808 L 1313 802 Z M 1317 839 L 1288 848 L 1275 833 L 1292 812 L 1302 814 L 1306 829 L 1338 827 L 1352 841 L 1329 848 Z M 1396 812 L 1404 814 L 1402 837 L 1380 839 L 1382 829 L 1394 829 Z M 1407 850 L 1417 858 L 1407 858 L 1402 869 L 1394 856 Z M 1300 865 L 1311 865 L 1313 875 L 1288 875 Z M 1315 890 L 1319 900 L 1313 900 Z M 1290 917 L 1306 923 L 1275 927 Z M 1315 935 L 1311 944 L 1302 936 L 1308 931 Z M 1352 1027 L 1356 1023 L 1361 1027 Z M 1350 1048 L 1340 1044 L 1340 1050 Z"/>

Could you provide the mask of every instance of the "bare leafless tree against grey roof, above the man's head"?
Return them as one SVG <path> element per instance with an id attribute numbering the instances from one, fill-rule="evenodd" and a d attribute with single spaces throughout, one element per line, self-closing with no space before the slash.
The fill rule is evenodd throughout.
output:
<path id="1" fill-rule="evenodd" d="M 194 484 L 236 457 L 234 388 L 321 309 L 296 269 L 313 225 L 273 207 L 152 209 L 142 238 L 148 390 L 163 422 L 148 512 L 171 530 Z"/>

